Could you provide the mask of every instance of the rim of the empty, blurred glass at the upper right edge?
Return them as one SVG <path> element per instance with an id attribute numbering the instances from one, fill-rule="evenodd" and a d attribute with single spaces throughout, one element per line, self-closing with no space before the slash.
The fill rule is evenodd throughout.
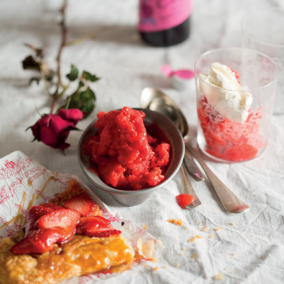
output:
<path id="1" fill-rule="evenodd" d="M 283 13 L 283 17 L 284 17 L 284 9 L 282 8 L 267 8 L 267 9 L 257 9 L 256 11 L 250 11 L 250 12 L 246 12 L 245 16 L 243 17 L 243 20 L 241 21 L 241 33 L 243 33 L 243 35 L 246 35 L 246 37 L 251 38 L 251 40 L 253 40 L 256 43 L 260 43 L 262 45 L 266 45 L 269 47 L 273 47 L 273 48 L 284 48 L 284 43 L 269 43 L 266 40 L 261 40 L 259 38 L 254 37 L 253 35 L 251 35 L 251 33 L 249 33 L 248 31 L 246 31 L 246 26 L 245 26 L 245 22 L 251 19 L 251 15 L 256 15 L 257 18 L 259 17 L 258 13 L 260 12 L 268 12 L 268 11 L 280 11 Z M 283 32 L 284 32 L 284 28 L 283 28 Z"/>

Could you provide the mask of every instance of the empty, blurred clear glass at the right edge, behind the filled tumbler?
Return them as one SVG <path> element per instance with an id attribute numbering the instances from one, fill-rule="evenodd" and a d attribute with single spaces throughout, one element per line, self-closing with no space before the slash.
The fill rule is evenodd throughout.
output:
<path id="1" fill-rule="evenodd" d="M 241 45 L 260 51 L 279 67 L 273 114 L 284 114 L 284 9 L 263 6 L 249 11 L 242 22 Z"/>

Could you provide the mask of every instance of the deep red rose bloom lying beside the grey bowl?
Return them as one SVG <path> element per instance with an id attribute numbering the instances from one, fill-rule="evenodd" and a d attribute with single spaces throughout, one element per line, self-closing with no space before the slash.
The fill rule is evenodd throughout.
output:
<path id="1" fill-rule="evenodd" d="M 70 130 L 83 118 L 80 109 L 60 109 L 58 114 L 45 114 L 31 126 L 33 136 L 52 148 L 66 149 L 65 143 Z"/>

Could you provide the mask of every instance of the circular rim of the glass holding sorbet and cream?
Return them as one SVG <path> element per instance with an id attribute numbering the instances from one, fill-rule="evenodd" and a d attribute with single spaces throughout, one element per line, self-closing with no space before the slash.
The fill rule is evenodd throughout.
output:
<path id="1" fill-rule="evenodd" d="M 249 52 L 253 52 L 255 54 L 258 54 L 258 55 L 261 55 L 263 56 L 263 58 L 266 58 L 268 60 L 271 61 L 271 63 L 273 63 L 274 67 L 275 67 L 275 76 L 273 77 L 273 80 L 271 80 L 271 82 L 269 82 L 268 84 L 265 84 L 261 87 L 256 87 L 256 88 L 250 88 L 250 89 L 244 89 L 244 90 L 241 90 L 238 92 L 251 92 L 251 91 L 256 91 L 256 90 L 259 90 L 259 89 L 264 89 L 268 86 L 270 86 L 271 84 L 273 84 L 276 80 L 278 80 L 278 76 L 279 76 L 279 67 L 278 65 L 276 64 L 276 62 L 271 58 L 269 57 L 268 55 L 264 54 L 264 53 L 261 53 L 260 51 L 258 50 L 253 50 L 251 48 L 215 48 L 215 49 L 212 49 L 212 50 L 207 50 L 206 52 L 202 53 L 200 56 L 198 56 L 197 60 L 195 60 L 195 79 L 198 79 L 201 80 L 204 84 L 207 84 L 208 86 L 212 87 L 212 88 L 215 88 L 215 89 L 222 89 L 224 91 L 227 91 L 227 92 L 236 92 L 236 90 L 232 90 L 232 89 L 224 89 L 222 87 L 218 87 L 218 86 L 213 86 L 212 84 L 209 84 L 207 83 L 206 81 L 204 81 L 202 79 L 202 77 L 199 76 L 199 73 L 200 72 L 197 72 L 197 63 L 199 62 L 199 60 L 201 60 L 202 58 L 204 58 L 205 56 L 211 54 L 211 53 L 216 53 L 216 52 L 220 52 L 222 50 L 226 50 L 226 51 L 229 51 L 229 50 L 239 50 L 239 51 L 249 51 Z M 217 61 L 216 61 L 217 62 Z"/>

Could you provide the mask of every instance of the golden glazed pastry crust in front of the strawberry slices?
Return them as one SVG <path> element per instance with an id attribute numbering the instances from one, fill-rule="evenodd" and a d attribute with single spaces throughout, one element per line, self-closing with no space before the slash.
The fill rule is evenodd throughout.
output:
<path id="1" fill-rule="evenodd" d="M 15 255 L 10 249 L 16 242 L 15 238 L 1 241 L 1 284 L 54 284 L 89 273 L 121 273 L 130 268 L 135 254 L 122 235 L 107 238 L 75 235 L 42 254 Z"/>

